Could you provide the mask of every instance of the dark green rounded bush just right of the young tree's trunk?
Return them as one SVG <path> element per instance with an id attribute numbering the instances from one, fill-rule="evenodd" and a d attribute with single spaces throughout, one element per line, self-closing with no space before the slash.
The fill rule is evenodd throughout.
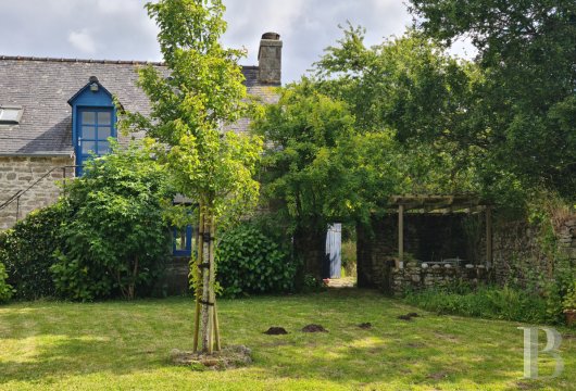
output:
<path id="1" fill-rule="evenodd" d="M 225 232 L 216 252 L 216 279 L 226 297 L 293 289 L 296 265 L 251 224 Z"/>

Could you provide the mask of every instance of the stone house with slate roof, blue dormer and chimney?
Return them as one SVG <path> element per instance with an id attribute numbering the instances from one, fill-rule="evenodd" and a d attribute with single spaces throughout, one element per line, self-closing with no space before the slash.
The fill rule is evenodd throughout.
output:
<path id="1" fill-rule="evenodd" d="M 277 100 L 281 46 L 278 34 L 264 34 L 259 64 L 242 67 L 248 93 L 264 102 Z M 148 98 L 136 86 L 137 70 L 147 64 L 0 55 L 0 229 L 53 203 L 57 181 L 82 175 L 91 152 L 107 153 L 108 137 L 121 144 L 135 137 L 117 134 L 112 97 L 128 111 L 148 114 Z M 243 133 L 248 125 L 241 119 L 233 129 Z"/>

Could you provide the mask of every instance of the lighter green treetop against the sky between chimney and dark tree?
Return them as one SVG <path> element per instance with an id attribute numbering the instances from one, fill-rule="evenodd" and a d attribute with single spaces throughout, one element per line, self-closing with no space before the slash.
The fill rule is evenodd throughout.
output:
<path id="1" fill-rule="evenodd" d="M 318 86 L 350 105 L 361 133 L 393 129 L 401 142 L 449 138 L 461 130 L 478 75 L 468 63 L 415 31 L 366 48 L 348 26 L 316 65 Z"/>

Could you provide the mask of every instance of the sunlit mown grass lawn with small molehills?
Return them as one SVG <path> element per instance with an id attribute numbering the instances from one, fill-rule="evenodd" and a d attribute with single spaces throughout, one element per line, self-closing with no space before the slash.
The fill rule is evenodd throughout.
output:
<path id="1" fill-rule="evenodd" d="M 0 389 L 7 390 L 516 390 L 576 389 L 576 341 L 564 332 L 561 377 L 522 380 L 516 323 L 437 316 L 376 292 L 220 301 L 227 344 L 249 367 L 195 371 L 170 363 L 191 346 L 190 299 L 0 307 Z M 423 317 L 398 319 L 408 312 Z M 363 330 L 360 323 L 373 328 Z M 327 333 L 304 333 L 311 323 Z M 266 336 L 270 326 L 287 336 Z M 544 338 L 541 338 L 543 344 Z M 541 375 L 553 362 L 541 357 Z"/>

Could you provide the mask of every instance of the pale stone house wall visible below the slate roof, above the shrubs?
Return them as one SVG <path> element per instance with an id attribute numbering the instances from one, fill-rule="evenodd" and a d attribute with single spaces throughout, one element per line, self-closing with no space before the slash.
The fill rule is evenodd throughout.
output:
<path id="1" fill-rule="evenodd" d="M 18 190 L 30 185 L 49 173 L 52 168 L 73 165 L 72 157 L 3 157 L 0 156 L 0 204 L 10 199 Z M 73 168 L 66 168 L 65 176 L 74 176 Z M 17 219 L 39 207 L 54 203 L 60 194 L 57 181 L 62 180 L 64 172 L 54 169 L 36 186 L 26 191 L 20 202 L 12 202 L 0 210 L 0 229 L 12 227 Z"/>

